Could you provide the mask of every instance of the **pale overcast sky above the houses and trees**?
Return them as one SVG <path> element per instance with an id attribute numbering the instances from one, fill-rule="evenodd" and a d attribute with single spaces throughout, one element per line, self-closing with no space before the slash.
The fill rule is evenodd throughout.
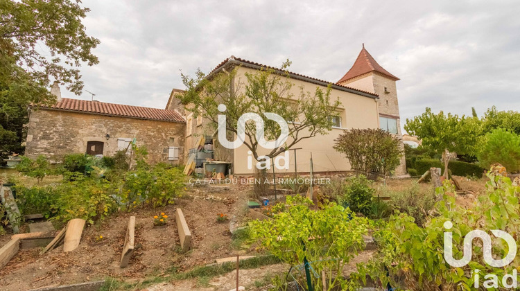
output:
<path id="1" fill-rule="evenodd" d="M 163 108 L 180 71 L 235 55 L 336 82 L 361 44 L 397 82 L 401 118 L 520 109 L 520 1 L 85 1 L 103 102 Z M 84 92 L 64 97 L 90 99 Z"/>

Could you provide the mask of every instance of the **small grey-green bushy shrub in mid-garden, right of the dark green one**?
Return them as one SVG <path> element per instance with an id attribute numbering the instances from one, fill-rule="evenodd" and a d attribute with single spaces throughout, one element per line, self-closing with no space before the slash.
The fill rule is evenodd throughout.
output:
<path id="1" fill-rule="evenodd" d="M 414 218 L 415 223 L 422 226 L 428 219 L 428 213 L 435 205 L 435 190 L 428 188 L 422 190 L 416 182 L 402 191 L 382 190 L 384 195 L 390 196 L 390 207 L 400 212 L 407 213 Z"/>

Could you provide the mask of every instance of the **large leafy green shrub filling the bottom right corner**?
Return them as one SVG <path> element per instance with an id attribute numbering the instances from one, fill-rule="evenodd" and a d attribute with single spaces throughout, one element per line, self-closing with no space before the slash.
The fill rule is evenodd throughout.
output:
<path id="1" fill-rule="evenodd" d="M 404 213 L 392 215 L 388 224 L 380 223 L 374 229 L 379 252 L 365 266 L 358 265 L 360 273 L 352 274 L 352 277 L 364 281 L 368 275 L 380 281 L 381 285 L 390 281 L 395 290 L 515 289 L 512 285 L 505 286 L 503 282 L 511 282 L 510 279 L 506 280 L 505 274 L 514 274 L 513 278 L 517 279 L 518 256 L 503 267 L 493 267 L 486 263 L 489 260 L 485 260 L 489 256 L 487 249 L 492 252 L 493 258 L 505 258 L 510 251 L 506 240 L 492 238 L 489 248 L 482 247 L 481 240 L 476 240 L 478 243 L 465 241 L 469 232 L 476 229 L 485 233 L 498 233 L 498 230 L 511 236 L 520 232 L 520 186 L 501 176 L 503 172 L 503 168 L 493 167 L 487 174 L 489 182 L 485 193 L 474 204 L 465 207 L 456 203 L 453 186 L 444 183 L 444 187 L 437 188 L 438 194 L 443 195 L 435 206 L 437 216 L 426 222 L 424 227 L 414 224 L 413 219 Z M 445 227 L 446 222 L 450 222 L 450 227 Z M 444 255 L 447 231 L 451 233 L 449 242 L 453 244 L 453 257 L 462 258 L 462 253 L 469 251 L 469 263 L 454 267 L 447 262 Z M 514 247 L 516 249 L 517 246 Z M 476 270 L 480 272 L 478 277 L 475 276 Z M 475 279 L 484 287 L 474 288 Z M 494 282 L 496 285 L 493 288 Z"/>

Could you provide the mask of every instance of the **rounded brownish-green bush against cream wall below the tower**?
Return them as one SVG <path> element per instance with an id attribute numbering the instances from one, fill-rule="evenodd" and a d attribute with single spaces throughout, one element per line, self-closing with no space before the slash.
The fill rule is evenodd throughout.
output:
<path id="1" fill-rule="evenodd" d="M 365 175 L 387 176 L 399 166 L 399 140 L 379 128 L 345 130 L 334 142 L 334 149 L 345 154 L 350 166 Z"/>

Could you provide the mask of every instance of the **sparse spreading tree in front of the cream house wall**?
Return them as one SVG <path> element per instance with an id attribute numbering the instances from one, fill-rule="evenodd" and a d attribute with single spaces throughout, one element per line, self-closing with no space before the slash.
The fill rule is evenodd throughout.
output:
<path id="1" fill-rule="evenodd" d="M 248 121 L 244 126 L 243 144 L 252 152 L 255 160 L 267 161 L 304 139 L 327 134 L 332 127 L 329 116 L 340 105 L 339 100 L 331 100 L 330 87 L 317 87 L 314 92 L 304 91 L 303 87 L 299 91 L 293 90 L 294 82 L 286 71 L 290 64 L 284 62 L 279 70 L 264 67 L 253 73 L 245 73 L 245 80 L 236 78 L 236 68 L 212 76 L 206 76 L 199 69 L 195 79 L 182 74 L 187 90 L 180 96 L 180 100 L 184 105 L 190 105 L 187 109 L 194 116 L 207 118 L 215 127 L 218 125 L 218 115 L 225 114 L 225 129 L 233 135 L 238 134 L 241 116 L 251 112 L 259 114 L 265 125 L 265 137 L 269 141 L 277 139 L 281 126 L 264 113 L 272 112 L 281 116 L 284 121 L 288 121 L 288 139 L 284 144 L 268 149 L 263 157 L 261 152 L 264 149 L 257 137 L 257 124 Z M 225 105 L 225 113 L 219 110 L 221 104 Z M 265 180 L 266 174 L 266 169 L 261 169 L 261 181 Z M 257 193 L 265 190 L 261 185 L 255 186 Z"/>

